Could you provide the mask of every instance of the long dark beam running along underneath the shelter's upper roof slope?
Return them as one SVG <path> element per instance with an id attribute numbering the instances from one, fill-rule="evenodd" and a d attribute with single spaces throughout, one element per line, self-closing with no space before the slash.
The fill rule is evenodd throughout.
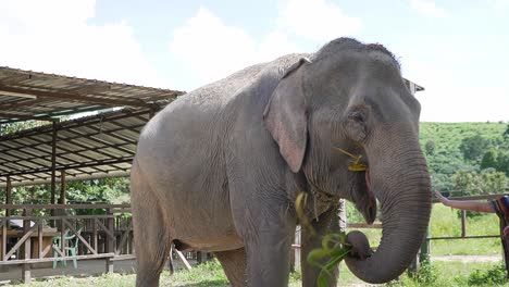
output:
<path id="1" fill-rule="evenodd" d="M 71 93 L 71 92 L 35 90 L 35 89 L 15 88 L 15 87 L 0 85 L 0 91 L 2 90 L 10 91 L 10 92 L 32 95 L 32 96 L 42 97 L 42 98 L 45 97 L 57 98 L 61 100 L 70 100 L 70 101 L 78 101 L 78 102 L 87 102 L 87 103 L 150 108 L 150 103 L 146 103 L 142 100 L 137 100 L 137 99 L 136 100 L 105 99 L 105 98 L 80 96 L 80 95 Z"/>

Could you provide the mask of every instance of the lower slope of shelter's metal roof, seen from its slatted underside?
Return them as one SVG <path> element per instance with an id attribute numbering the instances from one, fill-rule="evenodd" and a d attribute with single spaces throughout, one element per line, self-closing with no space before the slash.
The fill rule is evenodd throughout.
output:
<path id="1" fill-rule="evenodd" d="M 149 110 L 124 109 L 0 137 L 0 186 L 8 175 L 13 186 L 51 183 L 53 126 L 58 176 L 125 176 L 149 117 Z"/>

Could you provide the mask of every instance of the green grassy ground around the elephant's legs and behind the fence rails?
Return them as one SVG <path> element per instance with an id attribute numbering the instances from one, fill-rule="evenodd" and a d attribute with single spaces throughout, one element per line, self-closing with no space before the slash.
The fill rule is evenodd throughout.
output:
<path id="1" fill-rule="evenodd" d="M 431 219 L 431 236 L 459 236 L 461 222 L 456 210 L 451 210 L 442 204 L 434 204 Z M 372 246 L 380 244 L 381 232 L 375 229 L 362 229 L 370 238 Z M 486 214 L 468 220 L 468 235 L 496 235 L 498 230 L 498 219 L 494 214 Z M 500 254 L 500 239 L 458 239 L 458 240 L 433 240 L 431 247 L 433 255 L 462 255 L 462 254 Z M 432 262 L 431 269 L 424 270 L 418 279 L 404 274 L 399 282 L 394 282 L 389 286 L 468 286 L 481 282 L 477 286 L 508 286 L 509 284 L 494 284 L 489 282 L 492 272 L 499 263 L 461 263 L 461 262 Z M 482 277 L 482 275 L 487 277 Z M 470 284 L 469 284 L 470 278 Z M 472 279 L 473 278 L 473 279 Z M 484 282 L 484 283 L 483 283 Z M 134 286 L 135 275 L 112 274 L 100 277 L 87 278 L 57 278 L 35 282 L 29 286 Z M 364 286 L 361 280 L 355 277 L 346 267 L 342 267 L 339 286 L 356 285 Z M 163 272 L 161 286 L 227 286 L 226 277 L 216 261 L 201 264 L 190 272 L 181 271 L 170 276 Z M 290 286 L 300 286 L 300 273 L 291 274 Z M 367 286 L 367 285 L 365 285 Z"/>

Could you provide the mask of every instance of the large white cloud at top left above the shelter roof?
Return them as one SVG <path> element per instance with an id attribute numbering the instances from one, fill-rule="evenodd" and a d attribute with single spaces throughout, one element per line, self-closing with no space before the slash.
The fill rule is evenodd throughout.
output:
<path id="1" fill-rule="evenodd" d="M 95 1 L 1 1 L 0 65 L 134 85 L 171 87 L 124 22 L 95 26 Z"/>

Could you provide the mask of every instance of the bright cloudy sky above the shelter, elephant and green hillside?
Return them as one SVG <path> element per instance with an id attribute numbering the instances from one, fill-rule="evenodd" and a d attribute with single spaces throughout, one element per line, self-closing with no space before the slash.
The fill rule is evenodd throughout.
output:
<path id="1" fill-rule="evenodd" d="M 190 91 L 338 37 L 423 86 L 423 122 L 509 121 L 509 0 L 0 0 L 0 66 Z"/>

